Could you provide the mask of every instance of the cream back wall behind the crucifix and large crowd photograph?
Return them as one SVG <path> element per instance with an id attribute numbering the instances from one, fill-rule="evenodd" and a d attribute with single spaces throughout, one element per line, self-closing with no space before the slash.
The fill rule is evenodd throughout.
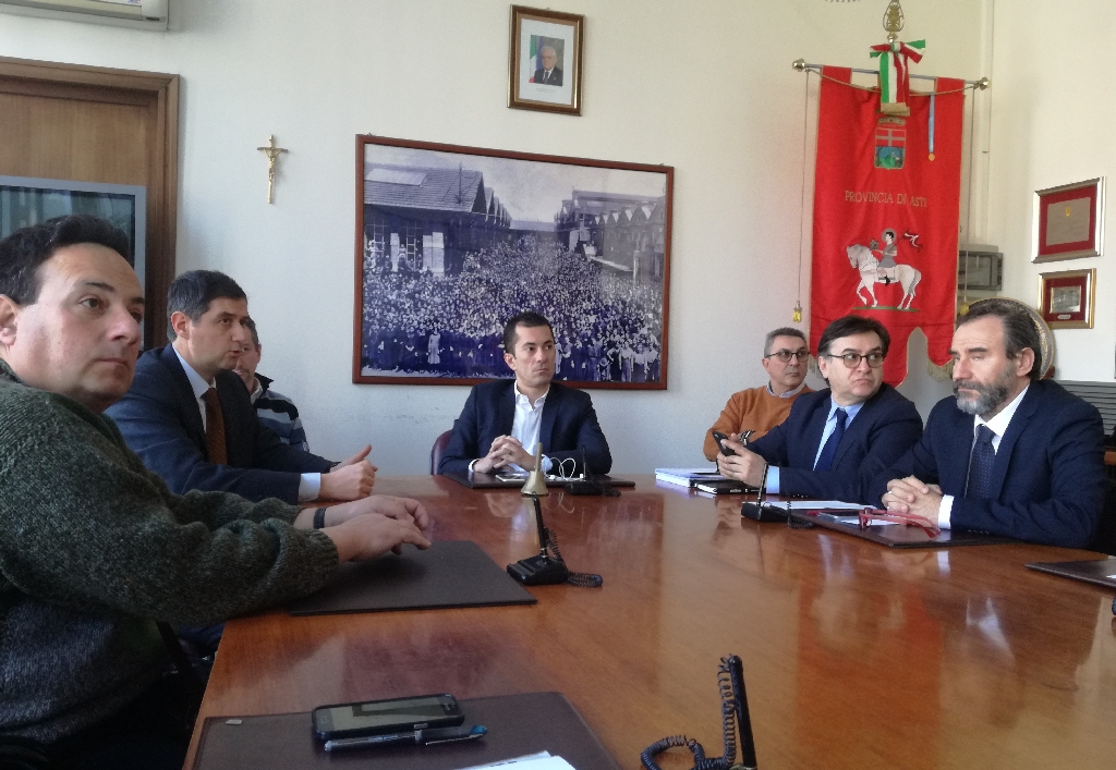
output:
<path id="1" fill-rule="evenodd" d="M 426 471 L 466 391 L 349 382 L 354 135 L 673 165 L 670 389 L 593 397 L 616 472 L 692 464 L 728 395 L 763 382 L 763 335 L 798 296 L 805 76 L 790 62 L 868 66 L 886 3 L 549 4 L 587 16 L 581 117 L 504 106 L 509 3 L 494 0 L 176 0 L 166 33 L 0 16 L 0 56 L 182 75 L 177 270 L 234 276 L 263 333 L 261 369 L 314 447 L 340 458 L 372 441 L 387 473 Z M 980 76 L 981 6 L 904 3 L 903 38 L 929 40 L 918 71 Z M 1086 52 L 1066 35 L 1068 69 Z M 271 206 L 256 152 L 268 134 L 290 150 Z M 804 300 L 808 272 L 807 256 Z M 925 408 L 944 391 L 922 349 L 904 387 Z"/>

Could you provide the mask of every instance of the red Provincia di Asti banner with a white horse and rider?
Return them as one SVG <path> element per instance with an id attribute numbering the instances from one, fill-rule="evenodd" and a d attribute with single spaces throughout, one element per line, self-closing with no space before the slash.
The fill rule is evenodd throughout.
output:
<path id="1" fill-rule="evenodd" d="M 814 186 L 810 347 L 855 312 L 892 335 L 884 381 L 906 377 L 906 343 L 922 327 L 930 359 L 950 359 L 958 285 L 964 81 L 912 93 L 911 115 L 879 113 L 879 92 L 822 69 Z"/>

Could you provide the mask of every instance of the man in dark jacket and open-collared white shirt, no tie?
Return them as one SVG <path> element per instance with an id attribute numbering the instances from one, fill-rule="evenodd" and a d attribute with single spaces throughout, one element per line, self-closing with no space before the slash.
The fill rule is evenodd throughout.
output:
<path id="1" fill-rule="evenodd" d="M 551 383 L 555 338 L 550 323 L 521 312 L 503 330 L 503 360 L 514 379 L 473 387 L 442 455 L 439 473 L 497 469 L 530 470 L 542 442 L 542 466 L 549 472 L 584 470 L 607 473 L 613 458 L 587 393 Z M 559 465 L 560 463 L 560 465 Z"/>

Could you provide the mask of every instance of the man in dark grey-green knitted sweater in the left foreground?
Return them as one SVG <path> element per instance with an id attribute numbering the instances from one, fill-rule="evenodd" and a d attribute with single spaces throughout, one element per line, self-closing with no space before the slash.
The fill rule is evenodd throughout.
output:
<path id="1" fill-rule="evenodd" d="M 48 744 L 60 768 L 181 767 L 186 738 L 157 723 L 173 704 L 156 620 L 215 623 L 430 546 L 416 500 L 299 510 L 173 494 L 147 471 L 102 415 L 140 348 L 127 252 L 83 215 L 0 241 L 0 739 Z"/>

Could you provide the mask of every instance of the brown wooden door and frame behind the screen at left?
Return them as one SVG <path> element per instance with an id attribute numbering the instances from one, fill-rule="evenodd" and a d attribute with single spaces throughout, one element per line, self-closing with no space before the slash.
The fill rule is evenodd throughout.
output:
<path id="1" fill-rule="evenodd" d="M 179 76 L 0 57 L 0 174 L 147 189 L 147 347 L 174 277 Z"/>

